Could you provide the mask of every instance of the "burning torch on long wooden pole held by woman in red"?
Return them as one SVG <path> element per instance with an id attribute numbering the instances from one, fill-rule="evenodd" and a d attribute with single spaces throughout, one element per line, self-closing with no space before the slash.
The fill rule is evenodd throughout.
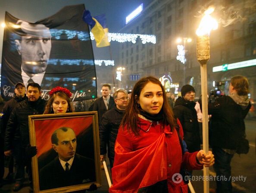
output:
<path id="1" fill-rule="evenodd" d="M 210 14 L 214 8 L 207 9 L 197 29 L 197 60 L 200 63 L 201 90 L 202 90 L 202 113 L 203 113 L 203 151 L 209 151 L 208 131 L 208 99 L 207 99 L 207 62 L 210 59 L 210 31 L 218 28 L 218 23 Z M 203 175 L 209 176 L 209 168 L 203 167 Z M 209 193 L 209 181 L 203 181 L 203 192 Z"/>

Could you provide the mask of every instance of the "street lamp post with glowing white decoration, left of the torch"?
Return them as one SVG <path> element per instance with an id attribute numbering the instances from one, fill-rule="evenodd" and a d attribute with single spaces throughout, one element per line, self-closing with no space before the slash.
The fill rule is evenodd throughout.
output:
<path id="1" fill-rule="evenodd" d="M 184 78 L 183 83 L 184 84 L 183 85 L 185 85 L 186 84 L 186 52 L 187 52 L 186 43 L 190 43 L 192 41 L 192 39 L 189 38 L 189 37 L 183 37 L 183 38 L 179 37 L 176 40 L 177 44 L 180 44 L 182 42 L 182 40 L 183 40 L 183 45 L 178 45 L 177 46 L 178 56 L 177 56 L 176 59 L 180 60 L 181 63 L 184 64 L 184 66 L 183 66 L 183 78 Z"/>

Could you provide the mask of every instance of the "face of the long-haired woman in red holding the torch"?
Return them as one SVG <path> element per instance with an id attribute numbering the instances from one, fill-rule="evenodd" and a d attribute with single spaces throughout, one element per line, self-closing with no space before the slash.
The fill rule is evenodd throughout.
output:
<path id="1" fill-rule="evenodd" d="M 158 114 L 163 104 L 162 88 L 158 84 L 147 83 L 141 90 L 137 103 L 145 112 L 152 115 Z"/>

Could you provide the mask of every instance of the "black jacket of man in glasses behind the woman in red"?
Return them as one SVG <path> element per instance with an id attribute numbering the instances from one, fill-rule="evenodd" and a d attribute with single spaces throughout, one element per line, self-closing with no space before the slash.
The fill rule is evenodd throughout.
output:
<path id="1" fill-rule="evenodd" d="M 100 155 L 106 154 L 108 146 L 108 157 L 114 159 L 116 136 L 125 111 L 114 107 L 103 114 L 100 123 Z"/>

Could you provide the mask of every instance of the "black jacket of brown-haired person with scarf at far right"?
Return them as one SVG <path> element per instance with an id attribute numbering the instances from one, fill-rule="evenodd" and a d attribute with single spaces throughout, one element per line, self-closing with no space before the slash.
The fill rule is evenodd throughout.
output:
<path id="1" fill-rule="evenodd" d="M 208 104 L 212 115 L 209 129 L 209 142 L 213 147 L 236 149 L 241 137 L 245 135 L 244 118 L 251 104 L 244 109 L 230 96 L 221 96 L 215 103 Z"/>

